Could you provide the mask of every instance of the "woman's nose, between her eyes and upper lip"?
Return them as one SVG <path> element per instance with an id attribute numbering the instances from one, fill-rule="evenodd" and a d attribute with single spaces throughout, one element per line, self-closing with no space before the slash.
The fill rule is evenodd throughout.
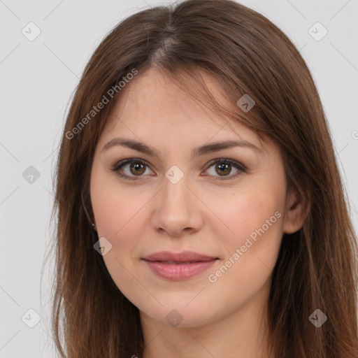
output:
<path id="1" fill-rule="evenodd" d="M 203 225 L 200 200 L 188 187 L 187 176 L 173 184 L 166 177 L 156 195 L 151 217 L 152 227 L 172 237 L 194 234 Z"/>

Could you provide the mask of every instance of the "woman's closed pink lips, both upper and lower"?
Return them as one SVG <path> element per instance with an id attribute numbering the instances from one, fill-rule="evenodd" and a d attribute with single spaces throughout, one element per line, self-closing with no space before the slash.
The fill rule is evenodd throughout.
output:
<path id="1" fill-rule="evenodd" d="M 143 258 L 151 271 L 169 280 L 192 278 L 212 266 L 217 257 L 199 254 L 198 252 L 162 251 Z"/>

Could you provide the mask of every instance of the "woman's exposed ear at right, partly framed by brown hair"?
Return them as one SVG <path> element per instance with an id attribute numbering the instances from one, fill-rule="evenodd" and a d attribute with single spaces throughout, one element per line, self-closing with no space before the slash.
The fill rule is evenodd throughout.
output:
<path id="1" fill-rule="evenodd" d="M 287 193 L 283 232 L 293 234 L 299 231 L 310 211 L 310 202 L 307 195 L 296 188 Z"/>

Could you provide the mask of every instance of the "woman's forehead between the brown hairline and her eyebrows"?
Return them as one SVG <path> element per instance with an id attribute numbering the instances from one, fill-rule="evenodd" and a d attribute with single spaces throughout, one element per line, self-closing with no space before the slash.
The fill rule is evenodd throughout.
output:
<path id="1" fill-rule="evenodd" d="M 225 106 L 227 98 L 212 76 L 201 73 L 215 100 Z M 116 134 L 138 139 L 151 137 L 154 142 L 163 136 L 196 141 L 245 138 L 262 145 L 257 134 L 243 124 L 215 113 L 188 94 L 185 87 L 162 71 L 149 69 L 131 80 L 117 99 L 101 135 L 101 141 Z"/>

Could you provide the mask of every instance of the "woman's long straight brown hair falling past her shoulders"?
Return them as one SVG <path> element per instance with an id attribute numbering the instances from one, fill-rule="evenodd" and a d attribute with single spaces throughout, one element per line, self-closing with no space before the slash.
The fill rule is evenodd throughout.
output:
<path id="1" fill-rule="evenodd" d="M 310 202 L 303 227 L 283 235 L 273 269 L 268 301 L 273 355 L 357 358 L 357 239 L 320 97 L 287 36 L 266 17 L 229 0 L 189 0 L 131 15 L 103 39 L 85 68 L 55 173 L 52 330 L 60 357 L 143 354 L 138 308 L 94 250 L 99 237 L 91 225 L 90 171 L 108 114 L 126 90 L 120 81 L 153 66 L 211 110 L 277 143 L 287 185 Z M 217 80 L 227 106 L 203 90 L 198 69 Z M 243 94 L 255 100 L 248 113 L 236 104 Z M 108 103 L 91 112 L 104 96 Z M 328 317 L 319 328 L 309 320 L 316 309 Z"/>

